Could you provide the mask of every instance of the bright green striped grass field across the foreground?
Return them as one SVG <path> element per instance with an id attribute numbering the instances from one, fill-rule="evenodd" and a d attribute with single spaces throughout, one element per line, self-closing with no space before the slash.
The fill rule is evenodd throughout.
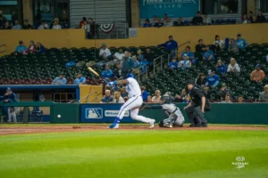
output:
<path id="1" fill-rule="evenodd" d="M 232 165 L 245 157 L 244 168 Z M 268 177 L 267 131 L 104 130 L 0 136 L 0 177 Z"/>

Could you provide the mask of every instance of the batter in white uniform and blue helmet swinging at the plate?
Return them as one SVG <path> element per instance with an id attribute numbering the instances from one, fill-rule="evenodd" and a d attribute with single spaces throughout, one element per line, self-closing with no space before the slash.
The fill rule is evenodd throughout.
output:
<path id="1" fill-rule="evenodd" d="M 134 78 L 132 74 L 128 74 L 126 79 L 124 80 L 118 80 L 114 82 L 109 82 L 108 85 L 117 85 L 117 84 L 123 84 L 127 85 L 126 90 L 128 92 L 129 100 L 126 101 L 122 106 L 121 109 L 113 121 L 112 125 L 109 125 L 109 128 L 119 128 L 119 123 L 121 122 L 122 117 L 124 117 L 124 114 L 126 111 L 130 110 L 130 117 L 134 120 L 141 121 L 143 123 L 150 124 L 150 128 L 155 127 L 155 119 L 138 116 L 138 109 L 142 105 L 142 95 L 140 91 L 140 87 L 138 85 L 137 80 Z"/>

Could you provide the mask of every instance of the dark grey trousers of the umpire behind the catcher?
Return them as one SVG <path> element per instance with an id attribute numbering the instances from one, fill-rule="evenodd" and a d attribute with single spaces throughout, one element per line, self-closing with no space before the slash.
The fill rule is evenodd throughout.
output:
<path id="1" fill-rule="evenodd" d="M 200 106 L 190 106 L 185 110 L 190 123 L 200 125 L 202 123 L 206 124 L 204 113 L 201 111 Z"/>

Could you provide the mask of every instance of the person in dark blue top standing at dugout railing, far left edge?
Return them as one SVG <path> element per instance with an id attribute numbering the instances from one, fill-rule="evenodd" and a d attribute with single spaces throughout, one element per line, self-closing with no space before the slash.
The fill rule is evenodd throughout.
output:
<path id="1" fill-rule="evenodd" d="M 12 89 L 10 87 L 8 87 L 6 89 L 6 93 L 4 93 L 4 96 L 0 97 L 0 100 L 1 101 L 4 101 L 4 102 L 16 102 L 17 99 L 16 99 L 16 94 L 13 93 Z M 17 122 L 17 117 L 16 117 L 16 113 L 15 113 L 15 108 L 14 107 L 8 107 L 8 123 L 10 122 L 14 122 L 16 123 Z"/>

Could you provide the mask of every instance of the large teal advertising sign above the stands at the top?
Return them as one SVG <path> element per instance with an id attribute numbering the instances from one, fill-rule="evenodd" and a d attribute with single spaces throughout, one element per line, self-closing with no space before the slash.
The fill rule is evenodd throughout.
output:
<path id="1" fill-rule="evenodd" d="M 152 19 L 154 15 L 163 18 L 194 17 L 200 9 L 200 0 L 140 0 L 140 19 Z"/>

